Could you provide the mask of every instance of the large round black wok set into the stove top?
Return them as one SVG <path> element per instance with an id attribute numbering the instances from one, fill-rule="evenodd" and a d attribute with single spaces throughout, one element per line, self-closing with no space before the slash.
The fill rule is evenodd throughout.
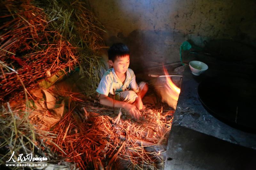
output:
<path id="1" fill-rule="evenodd" d="M 226 124 L 256 133 L 255 79 L 215 76 L 202 80 L 198 97 L 204 108 Z"/>

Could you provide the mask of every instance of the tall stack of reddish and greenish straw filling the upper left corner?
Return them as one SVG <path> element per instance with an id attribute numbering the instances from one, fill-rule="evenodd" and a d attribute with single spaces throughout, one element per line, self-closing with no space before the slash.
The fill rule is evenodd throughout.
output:
<path id="1" fill-rule="evenodd" d="M 60 70 L 88 77 L 84 92 L 99 82 L 97 52 L 103 27 L 78 1 L 1 2 L 0 101 L 29 91 Z M 40 7 L 43 7 L 40 8 Z"/>

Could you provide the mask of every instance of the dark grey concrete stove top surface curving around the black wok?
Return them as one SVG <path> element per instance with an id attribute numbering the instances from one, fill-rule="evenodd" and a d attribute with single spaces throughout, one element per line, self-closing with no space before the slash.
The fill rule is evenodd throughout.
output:
<path id="1" fill-rule="evenodd" d="M 197 87 L 206 76 L 194 76 L 189 67 L 186 67 L 172 127 L 176 125 L 184 126 L 256 150 L 256 134 L 230 127 L 213 117 L 203 107 L 197 95 Z"/>

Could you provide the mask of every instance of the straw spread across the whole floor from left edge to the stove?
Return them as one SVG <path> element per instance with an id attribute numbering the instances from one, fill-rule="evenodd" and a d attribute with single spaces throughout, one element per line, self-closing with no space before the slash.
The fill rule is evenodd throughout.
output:
<path id="1" fill-rule="evenodd" d="M 16 160 L 20 153 L 33 153 L 47 157 L 48 167 L 55 164 L 55 168 L 163 168 L 173 110 L 147 107 L 139 120 L 133 120 L 122 110 L 113 113 L 113 108 L 93 99 L 84 103 L 78 93 L 69 93 L 69 97 L 68 112 L 48 130 L 38 128 L 45 123 L 40 120 L 32 125 L 25 110 L 12 111 L 9 103 L 3 106 L 1 164 L 15 151 Z M 47 111 L 42 114 L 52 117 Z"/>

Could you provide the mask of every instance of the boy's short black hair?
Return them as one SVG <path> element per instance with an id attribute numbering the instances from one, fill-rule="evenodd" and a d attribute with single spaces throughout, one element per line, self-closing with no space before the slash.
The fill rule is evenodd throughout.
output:
<path id="1" fill-rule="evenodd" d="M 108 60 L 115 62 L 116 57 L 130 55 L 129 48 L 123 43 L 115 43 L 108 49 Z"/>

